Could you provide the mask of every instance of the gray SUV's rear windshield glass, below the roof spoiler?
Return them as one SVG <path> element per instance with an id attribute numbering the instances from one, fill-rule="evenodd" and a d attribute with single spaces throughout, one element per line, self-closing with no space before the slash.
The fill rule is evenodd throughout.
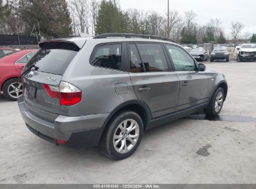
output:
<path id="1" fill-rule="evenodd" d="M 39 67 L 39 71 L 63 75 L 76 54 L 77 51 L 73 50 L 40 49 L 27 63 L 26 68 L 34 64 Z"/>

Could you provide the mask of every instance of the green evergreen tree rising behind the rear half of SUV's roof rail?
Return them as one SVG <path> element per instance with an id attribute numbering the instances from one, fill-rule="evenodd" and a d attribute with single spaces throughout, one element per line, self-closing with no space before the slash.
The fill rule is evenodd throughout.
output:
<path id="1" fill-rule="evenodd" d="M 126 32 L 128 14 L 123 12 L 112 1 L 103 0 L 100 3 L 97 17 L 97 34 L 110 32 Z"/>

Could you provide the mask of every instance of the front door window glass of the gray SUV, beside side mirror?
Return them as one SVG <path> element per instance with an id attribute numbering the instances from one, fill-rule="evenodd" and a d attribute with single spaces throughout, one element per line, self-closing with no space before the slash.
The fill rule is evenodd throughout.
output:
<path id="1" fill-rule="evenodd" d="M 182 48 L 166 45 L 176 71 L 195 71 L 194 60 Z"/>

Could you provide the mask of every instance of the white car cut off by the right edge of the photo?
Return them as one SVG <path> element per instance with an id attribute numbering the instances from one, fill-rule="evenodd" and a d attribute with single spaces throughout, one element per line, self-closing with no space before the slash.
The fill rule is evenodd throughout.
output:
<path id="1" fill-rule="evenodd" d="M 242 44 L 237 53 L 237 62 L 256 60 L 256 44 Z"/>

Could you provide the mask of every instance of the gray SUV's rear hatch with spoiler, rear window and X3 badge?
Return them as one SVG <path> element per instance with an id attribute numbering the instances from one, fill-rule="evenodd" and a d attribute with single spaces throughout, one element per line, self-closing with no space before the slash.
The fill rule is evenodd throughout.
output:
<path id="1" fill-rule="evenodd" d="M 62 75 L 79 50 L 78 45 L 65 40 L 50 40 L 40 44 L 39 52 L 24 68 L 25 71 L 31 65 L 37 67 L 37 70 L 32 68 L 23 78 L 24 101 L 32 114 L 50 122 L 59 116 L 60 99 L 54 98 L 54 94 L 49 95 L 47 86 L 59 88 Z"/>

